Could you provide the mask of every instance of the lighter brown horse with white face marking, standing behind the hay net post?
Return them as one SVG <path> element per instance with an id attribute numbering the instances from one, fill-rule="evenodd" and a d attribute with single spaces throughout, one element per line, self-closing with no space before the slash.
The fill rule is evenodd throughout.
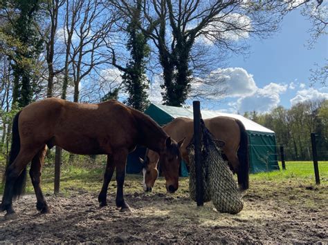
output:
<path id="1" fill-rule="evenodd" d="M 205 126 L 210 130 L 216 139 L 224 141 L 222 148 L 224 159 L 233 173 L 237 173 L 240 190 L 248 189 L 248 135 L 241 121 L 232 117 L 213 117 L 204 119 Z M 185 137 L 185 144 L 180 148 L 181 155 L 186 164 L 189 165 L 189 157 L 186 147 L 192 139 L 194 132 L 194 122 L 192 119 L 178 117 L 169 124 L 163 126 L 163 129 L 172 139 L 178 140 Z M 152 190 L 156 178 L 158 177 L 158 154 L 152 149 L 147 150 L 147 159 L 144 162 L 144 190 Z M 180 164 L 180 163 L 179 163 Z"/>

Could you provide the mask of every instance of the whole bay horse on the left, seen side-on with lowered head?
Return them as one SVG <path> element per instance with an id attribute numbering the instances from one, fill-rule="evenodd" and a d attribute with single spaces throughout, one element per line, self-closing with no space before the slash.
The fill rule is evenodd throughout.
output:
<path id="1" fill-rule="evenodd" d="M 167 189 L 179 186 L 179 145 L 147 115 L 118 101 L 101 104 L 77 104 L 62 99 L 44 99 L 26 106 L 17 113 L 12 126 L 12 148 L 6 168 L 6 183 L 0 211 L 15 213 L 12 199 L 24 188 L 26 166 L 37 196 L 37 209 L 48 213 L 50 208 L 42 195 L 40 175 L 46 146 L 60 146 L 82 155 L 106 154 L 107 166 L 100 206 L 107 205 L 107 188 L 116 168 L 116 206 L 129 210 L 123 199 L 123 183 L 127 155 L 140 144 L 154 150 L 160 157 Z"/>

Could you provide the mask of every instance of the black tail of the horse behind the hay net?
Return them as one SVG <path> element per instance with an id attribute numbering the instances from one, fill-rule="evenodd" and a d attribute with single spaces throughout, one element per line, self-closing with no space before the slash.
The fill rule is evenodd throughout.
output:
<path id="1" fill-rule="evenodd" d="M 236 120 L 236 122 L 240 129 L 240 144 L 237 153 L 239 159 L 238 184 L 242 190 L 247 190 L 249 187 L 248 135 L 242 121 Z"/>

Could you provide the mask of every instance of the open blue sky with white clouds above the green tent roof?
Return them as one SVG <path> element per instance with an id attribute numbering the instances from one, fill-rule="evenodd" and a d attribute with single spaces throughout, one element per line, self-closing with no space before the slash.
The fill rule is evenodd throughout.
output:
<path id="1" fill-rule="evenodd" d="M 250 45 L 248 57 L 233 56 L 226 61 L 225 68 L 212 70 L 209 79 L 220 81 L 224 76 L 225 85 L 217 82 L 212 87 L 200 87 L 203 90 L 226 88 L 224 96 L 212 95 L 209 100 L 201 101 L 203 109 L 244 114 L 246 111 L 268 112 L 277 106 L 290 108 L 294 104 L 308 99 L 328 99 L 328 88 L 320 84 L 309 86 L 310 69 L 315 63 L 320 66 L 328 59 L 327 36 L 322 36 L 309 49 L 307 42 L 311 21 L 305 19 L 300 10 L 286 15 L 270 39 L 248 37 Z M 203 45 L 208 45 L 204 42 Z M 218 54 L 219 55 L 219 54 Z M 157 59 L 157 57 L 156 57 Z M 104 70 L 107 81 L 120 84 L 120 72 L 116 68 Z M 149 77 L 150 78 L 150 77 Z M 149 90 L 149 98 L 156 103 L 162 102 L 161 78 L 155 77 Z M 111 83 L 109 83 L 111 86 Z M 196 86 L 197 88 L 197 86 Z M 126 95 L 121 95 L 124 99 Z M 186 101 L 192 105 L 192 100 Z"/>

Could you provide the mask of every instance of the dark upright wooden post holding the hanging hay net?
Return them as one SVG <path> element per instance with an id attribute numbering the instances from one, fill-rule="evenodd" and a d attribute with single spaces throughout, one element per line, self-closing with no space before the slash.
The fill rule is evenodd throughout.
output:
<path id="1" fill-rule="evenodd" d="M 192 102 L 194 110 L 194 163 L 196 170 L 196 200 L 197 206 L 203 206 L 203 179 L 201 174 L 201 105 L 199 101 Z"/>

